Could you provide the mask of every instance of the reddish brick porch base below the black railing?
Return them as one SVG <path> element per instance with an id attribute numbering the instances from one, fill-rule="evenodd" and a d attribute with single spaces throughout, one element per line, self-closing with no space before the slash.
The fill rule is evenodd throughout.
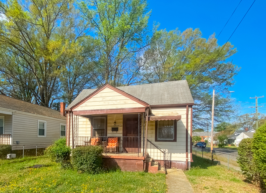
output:
<path id="1" fill-rule="evenodd" d="M 120 168 L 121 171 L 130 171 L 130 172 L 143 171 L 144 157 L 104 155 L 103 167 L 106 169 Z"/>

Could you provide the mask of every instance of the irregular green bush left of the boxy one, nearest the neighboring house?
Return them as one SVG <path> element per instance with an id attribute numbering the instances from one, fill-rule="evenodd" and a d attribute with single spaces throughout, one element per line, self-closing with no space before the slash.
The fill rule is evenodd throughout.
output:
<path id="1" fill-rule="evenodd" d="M 49 156 L 53 162 L 59 163 L 61 168 L 70 168 L 71 148 L 66 145 L 66 138 L 60 138 L 53 145 L 46 148 L 45 155 Z"/>

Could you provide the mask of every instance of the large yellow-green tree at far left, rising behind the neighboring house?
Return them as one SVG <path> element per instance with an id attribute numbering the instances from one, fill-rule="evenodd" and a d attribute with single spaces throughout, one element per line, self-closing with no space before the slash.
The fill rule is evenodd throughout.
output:
<path id="1" fill-rule="evenodd" d="M 17 0 L 0 3 L 0 46 L 23 60 L 17 63 L 34 76 L 36 100 L 51 107 L 61 98 L 60 58 L 66 45 L 85 35 L 72 0 Z"/>

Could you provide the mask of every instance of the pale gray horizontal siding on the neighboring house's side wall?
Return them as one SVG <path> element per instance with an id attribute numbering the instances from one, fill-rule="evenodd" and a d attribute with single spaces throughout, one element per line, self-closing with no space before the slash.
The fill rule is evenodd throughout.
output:
<path id="1" fill-rule="evenodd" d="M 38 120 L 46 121 L 46 137 L 38 137 Z M 38 115 L 14 113 L 13 144 L 50 144 L 60 137 L 60 124 L 67 124 L 66 120 L 56 120 Z"/>

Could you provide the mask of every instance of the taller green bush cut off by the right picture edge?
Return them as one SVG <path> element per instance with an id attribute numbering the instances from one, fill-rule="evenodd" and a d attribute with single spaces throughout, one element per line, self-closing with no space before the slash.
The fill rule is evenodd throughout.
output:
<path id="1" fill-rule="evenodd" d="M 253 153 L 260 176 L 266 184 L 266 124 L 260 126 L 253 135 Z"/>

